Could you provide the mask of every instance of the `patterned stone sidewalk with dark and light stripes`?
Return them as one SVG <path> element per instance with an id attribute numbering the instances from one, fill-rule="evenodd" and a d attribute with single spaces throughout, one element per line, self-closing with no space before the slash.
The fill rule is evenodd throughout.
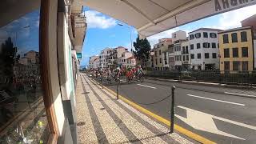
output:
<path id="1" fill-rule="evenodd" d="M 76 91 L 78 143 L 192 143 L 80 74 Z"/>

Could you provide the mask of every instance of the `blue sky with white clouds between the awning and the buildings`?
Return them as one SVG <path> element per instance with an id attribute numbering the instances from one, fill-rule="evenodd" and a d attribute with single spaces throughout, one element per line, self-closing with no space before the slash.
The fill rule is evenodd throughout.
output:
<path id="1" fill-rule="evenodd" d="M 125 23 L 122 23 L 114 18 L 99 13 L 89 8 L 84 9 L 87 20 L 86 39 L 82 50 L 82 66 L 86 66 L 89 62 L 89 57 L 98 55 L 101 50 L 106 47 L 114 48 L 124 46 L 130 49 L 130 28 Z M 177 30 L 184 30 L 187 33 L 201 27 L 218 28 L 227 30 L 241 26 L 241 21 L 256 14 L 256 5 L 247 6 L 242 9 L 233 10 L 223 14 L 218 14 L 210 18 L 191 22 L 189 24 L 178 26 L 174 29 L 163 31 L 159 34 L 154 34 L 147 38 L 150 45 L 153 46 L 160 38 L 171 38 L 171 34 Z M 121 23 L 124 26 L 119 26 Z M 137 30 L 131 27 L 132 41 L 137 38 Z"/>

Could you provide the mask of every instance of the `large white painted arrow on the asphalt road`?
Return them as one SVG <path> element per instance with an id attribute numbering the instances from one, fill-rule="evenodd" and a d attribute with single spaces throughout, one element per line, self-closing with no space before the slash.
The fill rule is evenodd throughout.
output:
<path id="1" fill-rule="evenodd" d="M 230 119 L 220 118 L 211 114 L 206 114 L 198 110 L 187 108 L 185 106 L 178 106 L 178 107 L 186 110 L 186 118 L 179 116 L 178 114 L 176 114 L 175 116 L 181 119 L 183 122 L 186 122 L 186 124 L 192 126 L 196 130 L 203 130 L 212 134 L 220 134 L 230 138 L 238 138 L 238 139 L 246 140 L 244 138 L 240 138 L 238 136 L 228 134 L 222 130 L 218 130 L 218 127 L 215 125 L 213 118 L 248 128 L 248 126 L 245 126 L 246 124 L 244 123 L 234 122 L 234 121 L 231 121 Z M 250 126 L 250 127 L 254 127 L 254 126 Z"/>

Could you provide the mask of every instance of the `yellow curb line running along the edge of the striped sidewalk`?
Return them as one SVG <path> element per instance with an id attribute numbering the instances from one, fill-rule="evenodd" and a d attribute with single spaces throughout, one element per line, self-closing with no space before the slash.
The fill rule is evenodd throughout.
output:
<path id="1" fill-rule="evenodd" d="M 98 84 L 100 86 L 100 84 L 98 82 L 96 82 L 94 79 L 90 78 L 94 83 Z M 113 90 L 110 90 L 109 88 L 107 88 L 106 86 L 103 86 L 103 88 L 105 90 L 107 90 L 108 92 L 110 92 L 110 94 L 114 94 L 117 95 Z M 119 94 L 119 99 L 122 100 L 123 102 L 126 102 L 128 105 L 134 107 L 134 109 L 142 112 L 142 114 L 146 114 L 147 116 L 149 116 L 150 118 L 154 118 L 155 120 L 157 120 L 158 122 L 162 122 L 163 124 L 165 124 L 166 126 L 170 126 L 170 121 L 167 120 L 166 118 L 162 118 L 161 116 L 159 116 L 158 114 L 154 114 L 153 112 L 151 112 L 150 110 L 146 110 L 145 108 L 143 108 L 142 106 L 137 105 L 134 102 L 131 102 L 130 100 L 128 100 L 127 98 L 123 97 L 121 94 Z M 179 133 L 186 135 L 189 138 L 194 139 L 195 141 L 201 142 L 201 143 L 207 143 L 207 144 L 215 144 L 216 142 L 212 142 L 207 138 L 204 138 L 198 134 L 194 134 L 194 132 L 191 132 L 190 130 L 186 130 L 184 129 L 182 126 L 178 126 L 177 124 L 174 124 L 174 130 L 177 130 Z"/>

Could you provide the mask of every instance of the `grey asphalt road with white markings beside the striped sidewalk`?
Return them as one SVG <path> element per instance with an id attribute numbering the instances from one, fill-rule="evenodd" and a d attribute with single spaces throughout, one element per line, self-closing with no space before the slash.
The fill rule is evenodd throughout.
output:
<path id="1" fill-rule="evenodd" d="M 122 96 L 166 119 L 170 119 L 171 100 L 166 97 L 171 94 L 171 86 L 176 86 L 175 124 L 217 143 L 256 143 L 256 98 L 226 93 L 256 96 L 254 90 L 150 79 L 129 84 L 125 79 L 121 81 Z M 104 85 L 116 91 L 115 83 Z"/>

